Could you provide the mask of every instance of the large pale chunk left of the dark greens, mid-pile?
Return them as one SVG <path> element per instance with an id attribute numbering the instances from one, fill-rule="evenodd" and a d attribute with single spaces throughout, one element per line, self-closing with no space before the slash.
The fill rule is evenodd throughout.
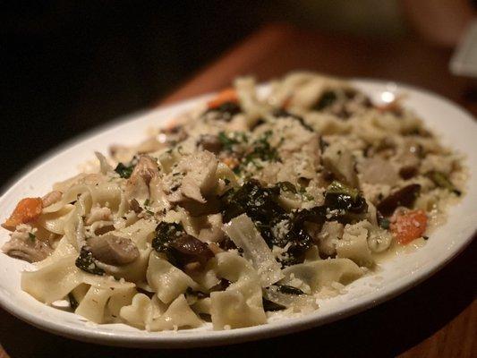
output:
<path id="1" fill-rule="evenodd" d="M 217 186 L 217 158 L 207 150 L 182 158 L 175 170 L 184 175 L 180 187 L 168 196 L 171 202 L 190 199 L 205 203 Z"/>

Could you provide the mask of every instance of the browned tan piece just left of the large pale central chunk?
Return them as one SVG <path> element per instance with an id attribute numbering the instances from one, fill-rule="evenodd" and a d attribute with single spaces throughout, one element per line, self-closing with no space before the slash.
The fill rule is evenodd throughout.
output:
<path id="1" fill-rule="evenodd" d="M 125 188 L 126 198 L 144 201 L 149 199 L 149 183 L 152 178 L 158 177 L 158 163 L 149 156 L 141 156 L 134 167 L 131 177 Z"/>

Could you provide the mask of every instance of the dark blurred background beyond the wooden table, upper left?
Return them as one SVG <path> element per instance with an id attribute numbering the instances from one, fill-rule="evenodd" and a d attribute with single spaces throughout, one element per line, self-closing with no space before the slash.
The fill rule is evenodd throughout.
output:
<path id="1" fill-rule="evenodd" d="M 0 186 L 47 149 L 158 103 L 270 21 L 405 33 L 396 0 L 2 3 Z"/>

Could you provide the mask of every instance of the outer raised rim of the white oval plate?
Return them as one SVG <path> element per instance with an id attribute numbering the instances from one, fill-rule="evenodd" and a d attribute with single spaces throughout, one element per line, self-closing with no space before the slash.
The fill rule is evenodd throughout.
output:
<path id="1" fill-rule="evenodd" d="M 396 90 L 411 90 L 420 94 L 424 94 L 432 99 L 443 102 L 448 107 L 452 107 L 457 112 L 460 112 L 460 114 L 463 115 L 463 118 L 465 117 L 466 121 L 476 124 L 475 117 L 468 110 L 459 106 L 456 104 L 456 102 L 430 90 L 422 89 L 420 87 L 409 85 L 400 81 L 355 77 L 350 78 L 348 81 L 357 86 L 359 86 L 361 82 L 364 84 L 380 86 L 382 88 L 386 88 L 386 86 L 392 84 L 393 86 L 396 86 Z M 266 86 L 268 86 L 268 82 L 260 84 L 260 88 L 264 88 Z M 0 198 L 4 197 L 4 195 L 10 192 L 10 190 L 13 190 L 14 182 L 20 180 L 25 175 L 28 175 L 30 171 L 36 169 L 38 166 L 41 166 L 48 160 L 55 158 L 55 156 L 60 154 L 65 149 L 78 145 L 83 141 L 92 139 L 95 136 L 101 135 L 103 132 L 114 129 L 120 125 L 128 124 L 130 121 L 143 115 L 154 112 L 158 112 L 158 115 L 163 115 L 163 113 L 165 114 L 168 111 L 174 111 L 179 107 L 188 107 L 192 106 L 193 104 L 200 103 L 200 101 L 213 96 L 214 93 L 217 92 L 210 92 L 208 94 L 195 96 L 193 98 L 187 98 L 171 105 L 152 107 L 138 112 L 133 112 L 129 115 L 123 115 L 107 121 L 105 124 L 95 126 L 94 128 L 89 129 L 89 131 L 76 135 L 72 137 L 72 139 L 64 141 L 60 145 L 55 146 L 53 149 L 47 150 L 46 153 L 31 161 L 30 164 L 25 166 L 17 175 L 13 175 L 13 177 L 4 183 L 4 185 L 2 185 L 0 188 Z M 255 341 L 268 337 L 277 337 L 280 335 L 302 331 L 308 328 L 319 327 L 336 320 L 343 320 L 354 314 L 365 311 L 368 308 L 384 303 L 411 289 L 413 286 L 419 285 L 422 283 L 422 281 L 437 273 L 441 268 L 446 267 L 451 260 L 454 260 L 456 256 L 458 256 L 470 243 L 473 242 L 476 232 L 477 224 L 473 226 L 473 234 L 470 234 L 463 242 L 457 243 L 456 246 L 452 248 L 452 251 L 449 255 L 444 257 L 443 260 L 434 261 L 426 267 L 418 268 L 415 272 L 417 277 L 414 276 L 412 280 L 408 279 L 407 277 L 401 277 L 396 281 L 389 283 L 386 286 L 386 291 L 379 294 L 378 297 L 374 299 L 368 297 L 367 299 L 362 300 L 362 302 L 340 307 L 336 310 L 327 312 L 320 317 L 314 317 L 314 315 L 311 314 L 308 317 L 287 318 L 284 320 L 268 322 L 265 325 L 253 326 L 249 328 L 207 331 L 203 335 L 197 335 L 197 332 L 190 332 L 190 334 L 188 334 L 186 330 L 183 330 L 180 332 L 162 332 L 161 334 L 158 334 L 158 336 L 132 336 L 129 335 L 127 331 L 116 331 L 114 333 L 109 333 L 91 329 L 87 325 L 81 328 L 70 327 L 64 323 L 58 323 L 44 319 L 34 312 L 18 307 L 13 301 L 8 300 L 8 295 L 4 294 L 3 291 L 0 291 L 0 306 L 2 306 L 5 311 L 11 313 L 14 317 L 23 320 L 36 328 L 46 330 L 62 337 L 68 337 L 89 343 L 140 348 L 178 348 L 226 345 L 232 343 L 237 344 L 245 341 Z M 66 327 L 70 330 L 64 329 Z"/>

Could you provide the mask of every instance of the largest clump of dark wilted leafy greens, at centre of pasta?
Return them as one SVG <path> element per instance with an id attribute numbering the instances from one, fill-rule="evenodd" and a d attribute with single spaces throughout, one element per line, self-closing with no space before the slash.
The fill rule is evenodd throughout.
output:
<path id="1" fill-rule="evenodd" d="M 341 183 L 331 186 L 328 203 L 311 209 L 287 212 L 278 202 L 280 192 L 296 192 L 292 183 L 282 182 L 272 187 L 264 187 L 251 179 L 238 190 L 229 190 L 220 199 L 224 221 L 246 214 L 259 230 L 268 247 L 290 246 L 287 255 L 280 259 L 283 265 L 294 265 L 304 260 L 305 252 L 313 241 L 305 223 L 321 226 L 327 220 L 342 223 L 362 218 L 368 206 L 359 192 L 353 192 Z M 325 196 L 327 198 L 327 196 Z M 277 230 L 277 227 L 280 230 Z"/>

